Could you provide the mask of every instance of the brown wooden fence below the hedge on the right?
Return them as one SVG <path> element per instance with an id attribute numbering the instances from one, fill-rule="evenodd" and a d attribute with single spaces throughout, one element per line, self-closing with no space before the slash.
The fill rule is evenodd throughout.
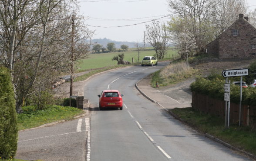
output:
<path id="1" fill-rule="evenodd" d="M 224 97 L 224 96 L 223 96 Z M 192 92 L 192 107 L 225 120 L 225 101 Z M 239 123 L 239 104 L 230 103 L 230 125 Z M 256 128 L 256 106 L 242 105 L 241 125 Z"/>

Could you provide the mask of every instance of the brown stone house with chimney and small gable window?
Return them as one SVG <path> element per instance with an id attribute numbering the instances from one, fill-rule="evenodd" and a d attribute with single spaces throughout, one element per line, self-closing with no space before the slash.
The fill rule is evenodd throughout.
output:
<path id="1" fill-rule="evenodd" d="M 239 14 L 239 19 L 206 48 L 208 54 L 219 58 L 254 58 L 256 29 L 248 22 L 248 17 Z"/>

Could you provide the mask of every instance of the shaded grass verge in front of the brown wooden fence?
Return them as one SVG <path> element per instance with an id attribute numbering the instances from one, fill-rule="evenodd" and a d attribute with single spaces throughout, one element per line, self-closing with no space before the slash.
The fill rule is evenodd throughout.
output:
<path id="1" fill-rule="evenodd" d="M 188 108 L 171 109 L 173 113 L 202 133 L 213 135 L 224 142 L 256 155 L 256 131 L 248 127 L 230 126 L 218 116 L 207 115 Z"/>

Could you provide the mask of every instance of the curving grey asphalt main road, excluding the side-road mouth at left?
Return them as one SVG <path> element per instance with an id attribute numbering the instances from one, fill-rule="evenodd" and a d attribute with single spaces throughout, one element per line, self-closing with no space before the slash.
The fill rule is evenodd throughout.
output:
<path id="1" fill-rule="evenodd" d="M 131 67 L 92 77 L 84 97 L 94 106 L 91 112 L 88 161 L 246 161 L 229 148 L 197 134 L 142 97 L 135 83 L 162 68 Z M 98 109 L 97 95 L 105 89 L 124 94 L 123 110 Z"/>

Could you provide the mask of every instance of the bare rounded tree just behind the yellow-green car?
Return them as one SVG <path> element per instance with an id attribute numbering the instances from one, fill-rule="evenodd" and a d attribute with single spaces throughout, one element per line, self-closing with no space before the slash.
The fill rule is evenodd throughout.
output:
<path id="1" fill-rule="evenodd" d="M 146 25 L 146 41 L 153 46 L 155 55 L 158 59 L 164 58 L 170 36 L 165 23 L 160 24 L 159 21 L 152 21 L 150 25 Z"/>

